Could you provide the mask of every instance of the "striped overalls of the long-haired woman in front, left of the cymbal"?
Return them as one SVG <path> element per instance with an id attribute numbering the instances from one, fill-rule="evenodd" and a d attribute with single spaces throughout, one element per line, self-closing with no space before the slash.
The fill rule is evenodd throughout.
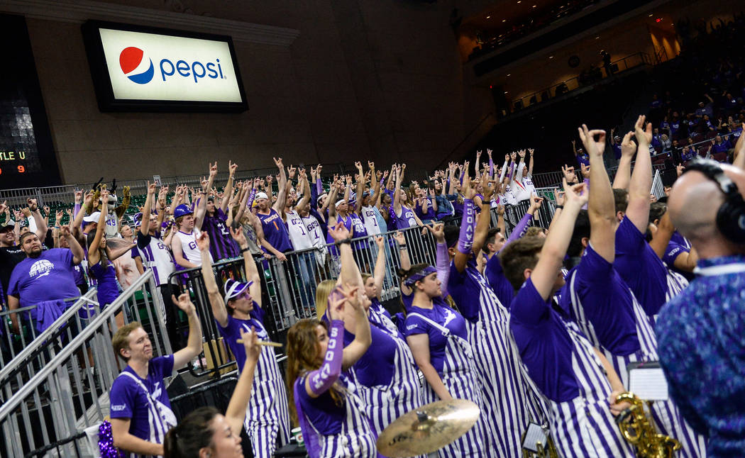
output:
<path id="1" fill-rule="evenodd" d="M 378 440 L 378 436 L 370 427 L 370 419 L 364 413 L 365 407 L 356 392 L 355 384 L 343 374 L 339 376 L 337 384 L 343 387 L 343 407 L 346 410 L 346 419 L 341 424 L 341 431 L 339 433 L 334 436 L 325 436 L 319 433 L 300 407 L 297 390 L 305 389 L 305 376 L 300 377 L 295 382 L 295 406 L 297 407 L 297 415 L 302 415 L 300 424 L 305 424 L 305 427 L 303 427 L 303 436 L 305 437 L 306 444 L 309 445 L 307 447 L 308 455 L 310 458 L 380 457 L 381 455 L 378 455 L 377 448 L 375 447 L 375 441 Z M 309 438 L 308 434 L 305 433 L 308 427 L 312 431 L 309 431 L 311 434 L 315 433 L 315 437 Z M 314 450 L 315 447 L 318 448 L 317 451 Z"/>

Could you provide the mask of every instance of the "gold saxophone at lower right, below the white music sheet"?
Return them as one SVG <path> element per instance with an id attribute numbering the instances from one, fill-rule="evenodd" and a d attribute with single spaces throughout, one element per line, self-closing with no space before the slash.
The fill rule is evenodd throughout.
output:
<path id="1" fill-rule="evenodd" d="M 673 458 L 673 452 L 680 449 L 680 442 L 670 436 L 657 433 L 654 424 L 644 412 L 645 401 L 633 392 L 622 392 L 616 396 L 615 403 L 629 402 L 631 407 L 621 412 L 615 422 L 630 444 L 636 448 L 639 458 Z M 646 401 L 649 403 L 650 401 Z"/>

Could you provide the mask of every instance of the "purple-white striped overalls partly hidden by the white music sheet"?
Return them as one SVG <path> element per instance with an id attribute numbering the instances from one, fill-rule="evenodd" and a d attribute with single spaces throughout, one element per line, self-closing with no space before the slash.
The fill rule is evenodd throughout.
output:
<path id="1" fill-rule="evenodd" d="M 576 272 L 571 274 L 571 277 L 568 279 L 568 284 L 571 293 L 571 314 L 575 319 L 577 319 L 577 327 L 587 336 L 587 339 L 590 341 L 592 346 L 597 347 L 605 354 L 606 358 L 608 358 L 609 362 L 613 365 L 615 372 L 621 378 L 621 383 L 624 384 L 624 387 L 628 388 L 628 366 L 630 363 L 659 360 L 657 355 L 657 339 L 652 324 L 650 323 L 650 319 L 644 312 L 644 308 L 641 307 L 641 304 L 639 304 L 633 293 L 630 291 L 633 298 L 636 336 L 639 340 L 640 348 L 632 354 L 612 354 L 609 350 L 604 349 L 600 344 L 600 340 L 595 333 L 595 328 L 593 327 L 592 322 L 589 322 L 585 317 L 580 296 L 574 289 L 576 280 L 575 274 Z M 658 432 L 678 439 L 681 443 L 682 449 L 678 454 L 676 454 L 676 457 L 706 457 L 706 439 L 704 439 L 703 436 L 694 433 L 694 430 L 685 422 L 678 407 L 676 407 L 671 399 L 668 399 L 668 401 L 654 401 L 651 410 Z"/>

